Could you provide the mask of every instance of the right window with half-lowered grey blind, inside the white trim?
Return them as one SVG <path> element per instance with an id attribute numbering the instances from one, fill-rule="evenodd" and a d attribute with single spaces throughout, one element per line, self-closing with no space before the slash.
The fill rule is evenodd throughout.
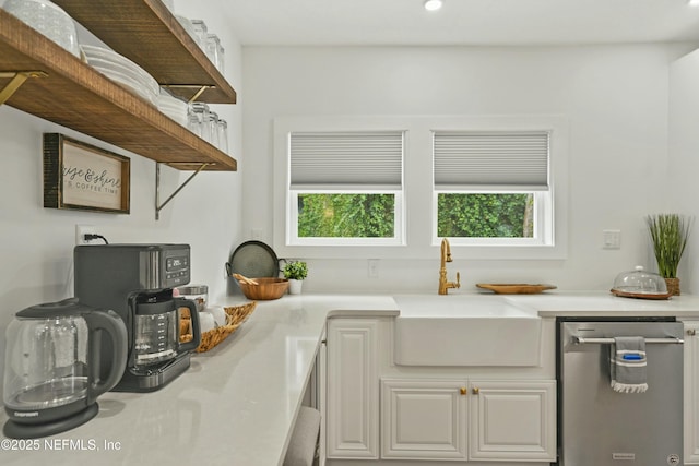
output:
<path id="1" fill-rule="evenodd" d="M 433 133 L 436 237 L 544 242 L 548 131 Z"/>

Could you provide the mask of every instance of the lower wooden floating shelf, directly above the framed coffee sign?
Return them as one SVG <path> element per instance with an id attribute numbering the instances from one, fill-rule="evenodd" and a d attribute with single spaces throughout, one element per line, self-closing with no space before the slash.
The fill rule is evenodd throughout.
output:
<path id="1" fill-rule="evenodd" d="M 27 79 L 7 105 L 178 169 L 237 169 L 234 158 L 0 9 L 0 76 L 17 71 L 46 76 Z M 10 81 L 0 77 L 0 89 Z"/>

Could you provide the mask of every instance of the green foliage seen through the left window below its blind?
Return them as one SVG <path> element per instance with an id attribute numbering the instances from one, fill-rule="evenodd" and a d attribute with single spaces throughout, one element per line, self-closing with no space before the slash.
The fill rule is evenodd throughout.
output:
<path id="1" fill-rule="evenodd" d="M 392 238 L 393 194 L 299 194 L 299 238 Z"/>

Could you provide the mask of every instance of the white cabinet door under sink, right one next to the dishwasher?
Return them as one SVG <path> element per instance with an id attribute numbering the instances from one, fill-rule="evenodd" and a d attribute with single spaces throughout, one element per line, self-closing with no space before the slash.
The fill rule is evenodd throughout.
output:
<path id="1" fill-rule="evenodd" d="M 471 381 L 469 459 L 555 461 L 555 381 Z"/>

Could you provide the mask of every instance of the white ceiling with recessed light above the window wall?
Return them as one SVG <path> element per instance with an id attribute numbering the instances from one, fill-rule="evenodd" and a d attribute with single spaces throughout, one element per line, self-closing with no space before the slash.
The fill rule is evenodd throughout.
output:
<path id="1" fill-rule="evenodd" d="M 687 0 L 222 0 L 250 45 L 577 45 L 699 41 Z"/>

